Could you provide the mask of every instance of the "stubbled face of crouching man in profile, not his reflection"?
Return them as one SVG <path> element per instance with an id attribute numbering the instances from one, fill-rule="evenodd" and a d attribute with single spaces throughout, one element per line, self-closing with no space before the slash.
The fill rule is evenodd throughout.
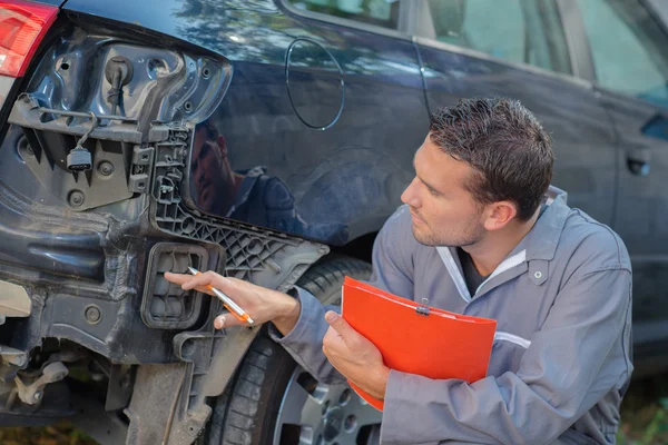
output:
<path id="1" fill-rule="evenodd" d="M 483 208 L 464 185 L 474 174 L 428 136 L 414 159 L 415 179 L 401 199 L 411 208 L 413 235 L 426 246 L 470 246 L 485 234 Z"/>

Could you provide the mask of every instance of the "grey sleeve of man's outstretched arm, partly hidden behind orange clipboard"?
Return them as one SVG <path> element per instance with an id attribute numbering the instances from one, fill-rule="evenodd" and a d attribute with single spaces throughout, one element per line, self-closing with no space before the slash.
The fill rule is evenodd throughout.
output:
<path id="1" fill-rule="evenodd" d="M 380 231 L 373 247 L 373 270 L 371 283 L 374 286 L 386 289 L 406 298 L 413 297 L 412 269 L 412 237 L 410 226 L 406 235 L 406 216 L 410 216 L 405 207 L 392 216 Z M 410 224 L 410 219 L 407 220 Z M 306 289 L 295 287 L 293 295 L 299 298 L 302 312 L 297 324 L 286 336 L 273 326 L 269 326 L 269 336 L 283 345 L 293 358 L 318 382 L 341 383 L 345 382 L 327 360 L 323 353 L 323 338 L 330 325 L 325 322 L 325 312 L 333 309 L 341 312 L 340 307 L 324 307 Z"/>

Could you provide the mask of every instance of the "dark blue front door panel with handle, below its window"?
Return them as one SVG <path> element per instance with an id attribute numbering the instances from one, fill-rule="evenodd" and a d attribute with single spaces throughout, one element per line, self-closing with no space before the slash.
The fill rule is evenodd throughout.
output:
<path id="1" fill-rule="evenodd" d="M 619 196 L 612 227 L 633 267 L 635 323 L 668 318 L 668 108 L 601 92 L 619 135 Z"/>

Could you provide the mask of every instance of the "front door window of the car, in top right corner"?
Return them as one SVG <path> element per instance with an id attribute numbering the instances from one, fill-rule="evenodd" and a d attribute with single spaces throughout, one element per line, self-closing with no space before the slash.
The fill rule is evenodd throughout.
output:
<path id="1" fill-rule="evenodd" d="M 668 103 L 668 39 L 637 0 L 580 0 L 598 82 Z"/>

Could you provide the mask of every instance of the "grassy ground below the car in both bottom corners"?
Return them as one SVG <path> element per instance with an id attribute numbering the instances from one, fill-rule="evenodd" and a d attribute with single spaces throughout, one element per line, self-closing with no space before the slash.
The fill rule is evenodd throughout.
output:
<path id="1" fill-rule="evenodd" d="M 668 375 L 636 380 L 623 399 L 619 445 L 668 444 Z M 68 422 L 41 428 L 0 428 L 2 445 L 97 445 Z"/>

